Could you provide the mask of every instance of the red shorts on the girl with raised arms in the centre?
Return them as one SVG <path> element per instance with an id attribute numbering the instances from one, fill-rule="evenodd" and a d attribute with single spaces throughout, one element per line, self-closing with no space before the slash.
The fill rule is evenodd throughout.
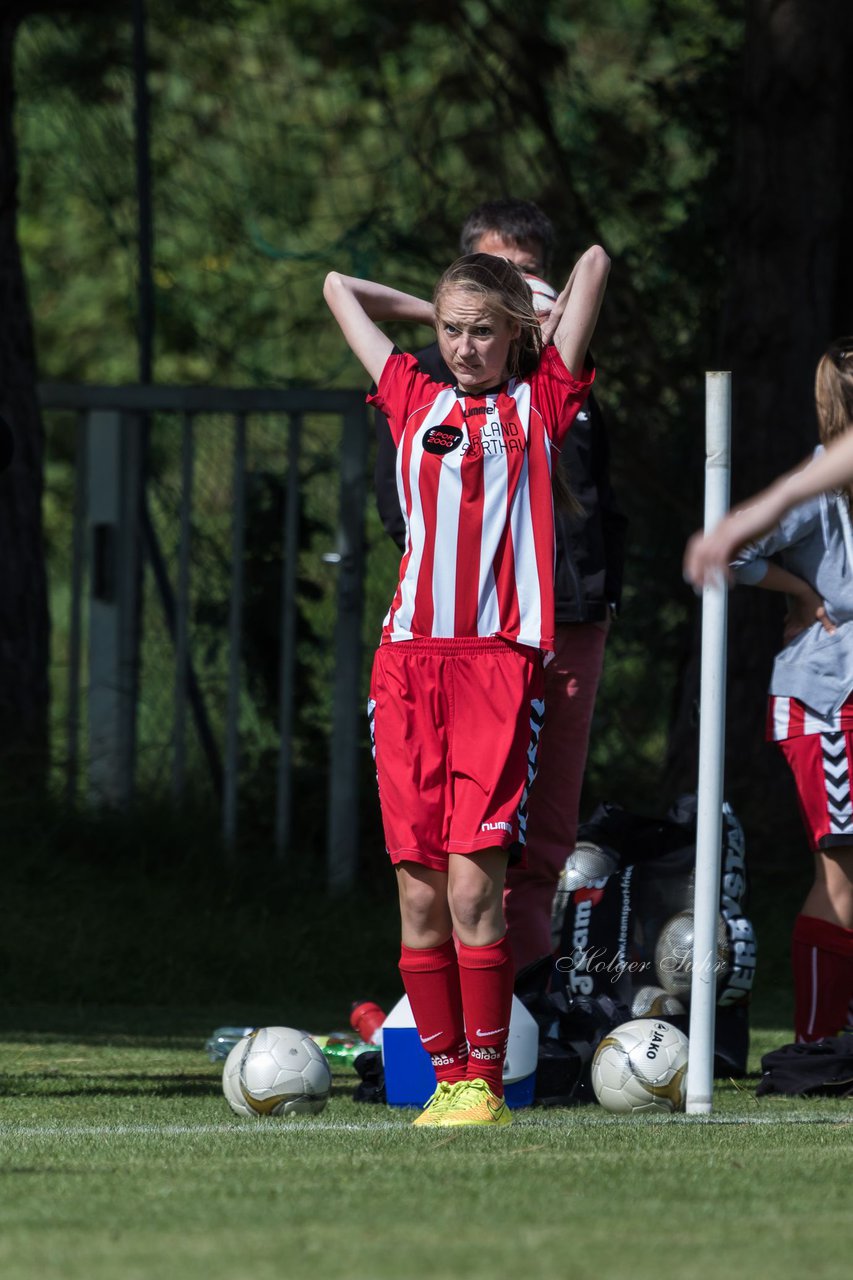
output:
<path id="1" fill-rule="evenodd" d="M 524 645 L 491 636 L 379 646 L 368 712 L 393 863 L 447 870 L 448 854 L 520 854 L 542 694 L 542 654 Z"/>

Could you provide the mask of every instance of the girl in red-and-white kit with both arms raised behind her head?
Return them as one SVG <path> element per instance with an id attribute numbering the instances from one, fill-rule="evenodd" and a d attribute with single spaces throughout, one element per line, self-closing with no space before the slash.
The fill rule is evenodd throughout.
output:
<path id="1" fill-rule="evenodd" d="M 576 262 L 543 348 L 519 269 L 471 253 L 433 303 L 329 274 L 324 294 L 378 384 L 406 516 L 370 717 L 400 892 L 400 969 L 438 1088 L 415 1124 L 508 1124 L 514 965 L 502 913 L 535 772 L 553 648 L 555 453 L 581 407 L 610 260 Z M 419 372 L 378 320 L 435 325 L 452 383 Z M 459 946 L 452 934 L 456 934 Z"/>

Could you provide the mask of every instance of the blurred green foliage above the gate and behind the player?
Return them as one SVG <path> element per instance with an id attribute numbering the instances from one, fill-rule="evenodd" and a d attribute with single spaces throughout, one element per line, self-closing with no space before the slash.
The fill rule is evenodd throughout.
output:
<path id="1" fill-rule="evenodd" d="M 136 358 L 132 83 L 128 28 L 106 27 L 22 33 L 22 239 L 42 372 L 120 381 Z M 660 790 L 689 650 L 679 559 L 698 521 L 740 38 L 733 3 L 150 5 L 159 380 L 359 385 L 323 274 L 429 291 L 483 198 L 547 209 L 557 282 L 590 241 L 611 252 L 598 394 L 631 525 L 590 801 Z M 369 634 L 392 589 L 383 536 L 371 530 Z M 255 630 L 251 678 L 269 690 Z"/>

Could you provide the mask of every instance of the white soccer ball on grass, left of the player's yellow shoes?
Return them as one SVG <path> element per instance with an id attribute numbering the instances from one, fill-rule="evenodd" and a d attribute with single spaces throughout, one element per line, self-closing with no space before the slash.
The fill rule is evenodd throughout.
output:
<path id="1" fill-rule="evenodd" d="M 318 1115 L 332 1092 L 323 1050 L 292 1027 L 260 1027 L 247 1036 L 238 1080 L 248 1112 L 261 1116 Z"/>

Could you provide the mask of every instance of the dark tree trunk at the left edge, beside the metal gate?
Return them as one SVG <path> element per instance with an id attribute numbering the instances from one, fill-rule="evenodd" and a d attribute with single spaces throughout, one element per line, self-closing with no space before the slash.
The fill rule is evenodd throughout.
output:
<path id="1" fill-rule="evenodd" d="M 44 435 L 32 325 L 17 241 L 12 51 L 0 18 L 0 413 L 15 454 L 0 476 L 0 790 L 37 786 L 47 760 L 47 591 L 41 495 Z"/>

